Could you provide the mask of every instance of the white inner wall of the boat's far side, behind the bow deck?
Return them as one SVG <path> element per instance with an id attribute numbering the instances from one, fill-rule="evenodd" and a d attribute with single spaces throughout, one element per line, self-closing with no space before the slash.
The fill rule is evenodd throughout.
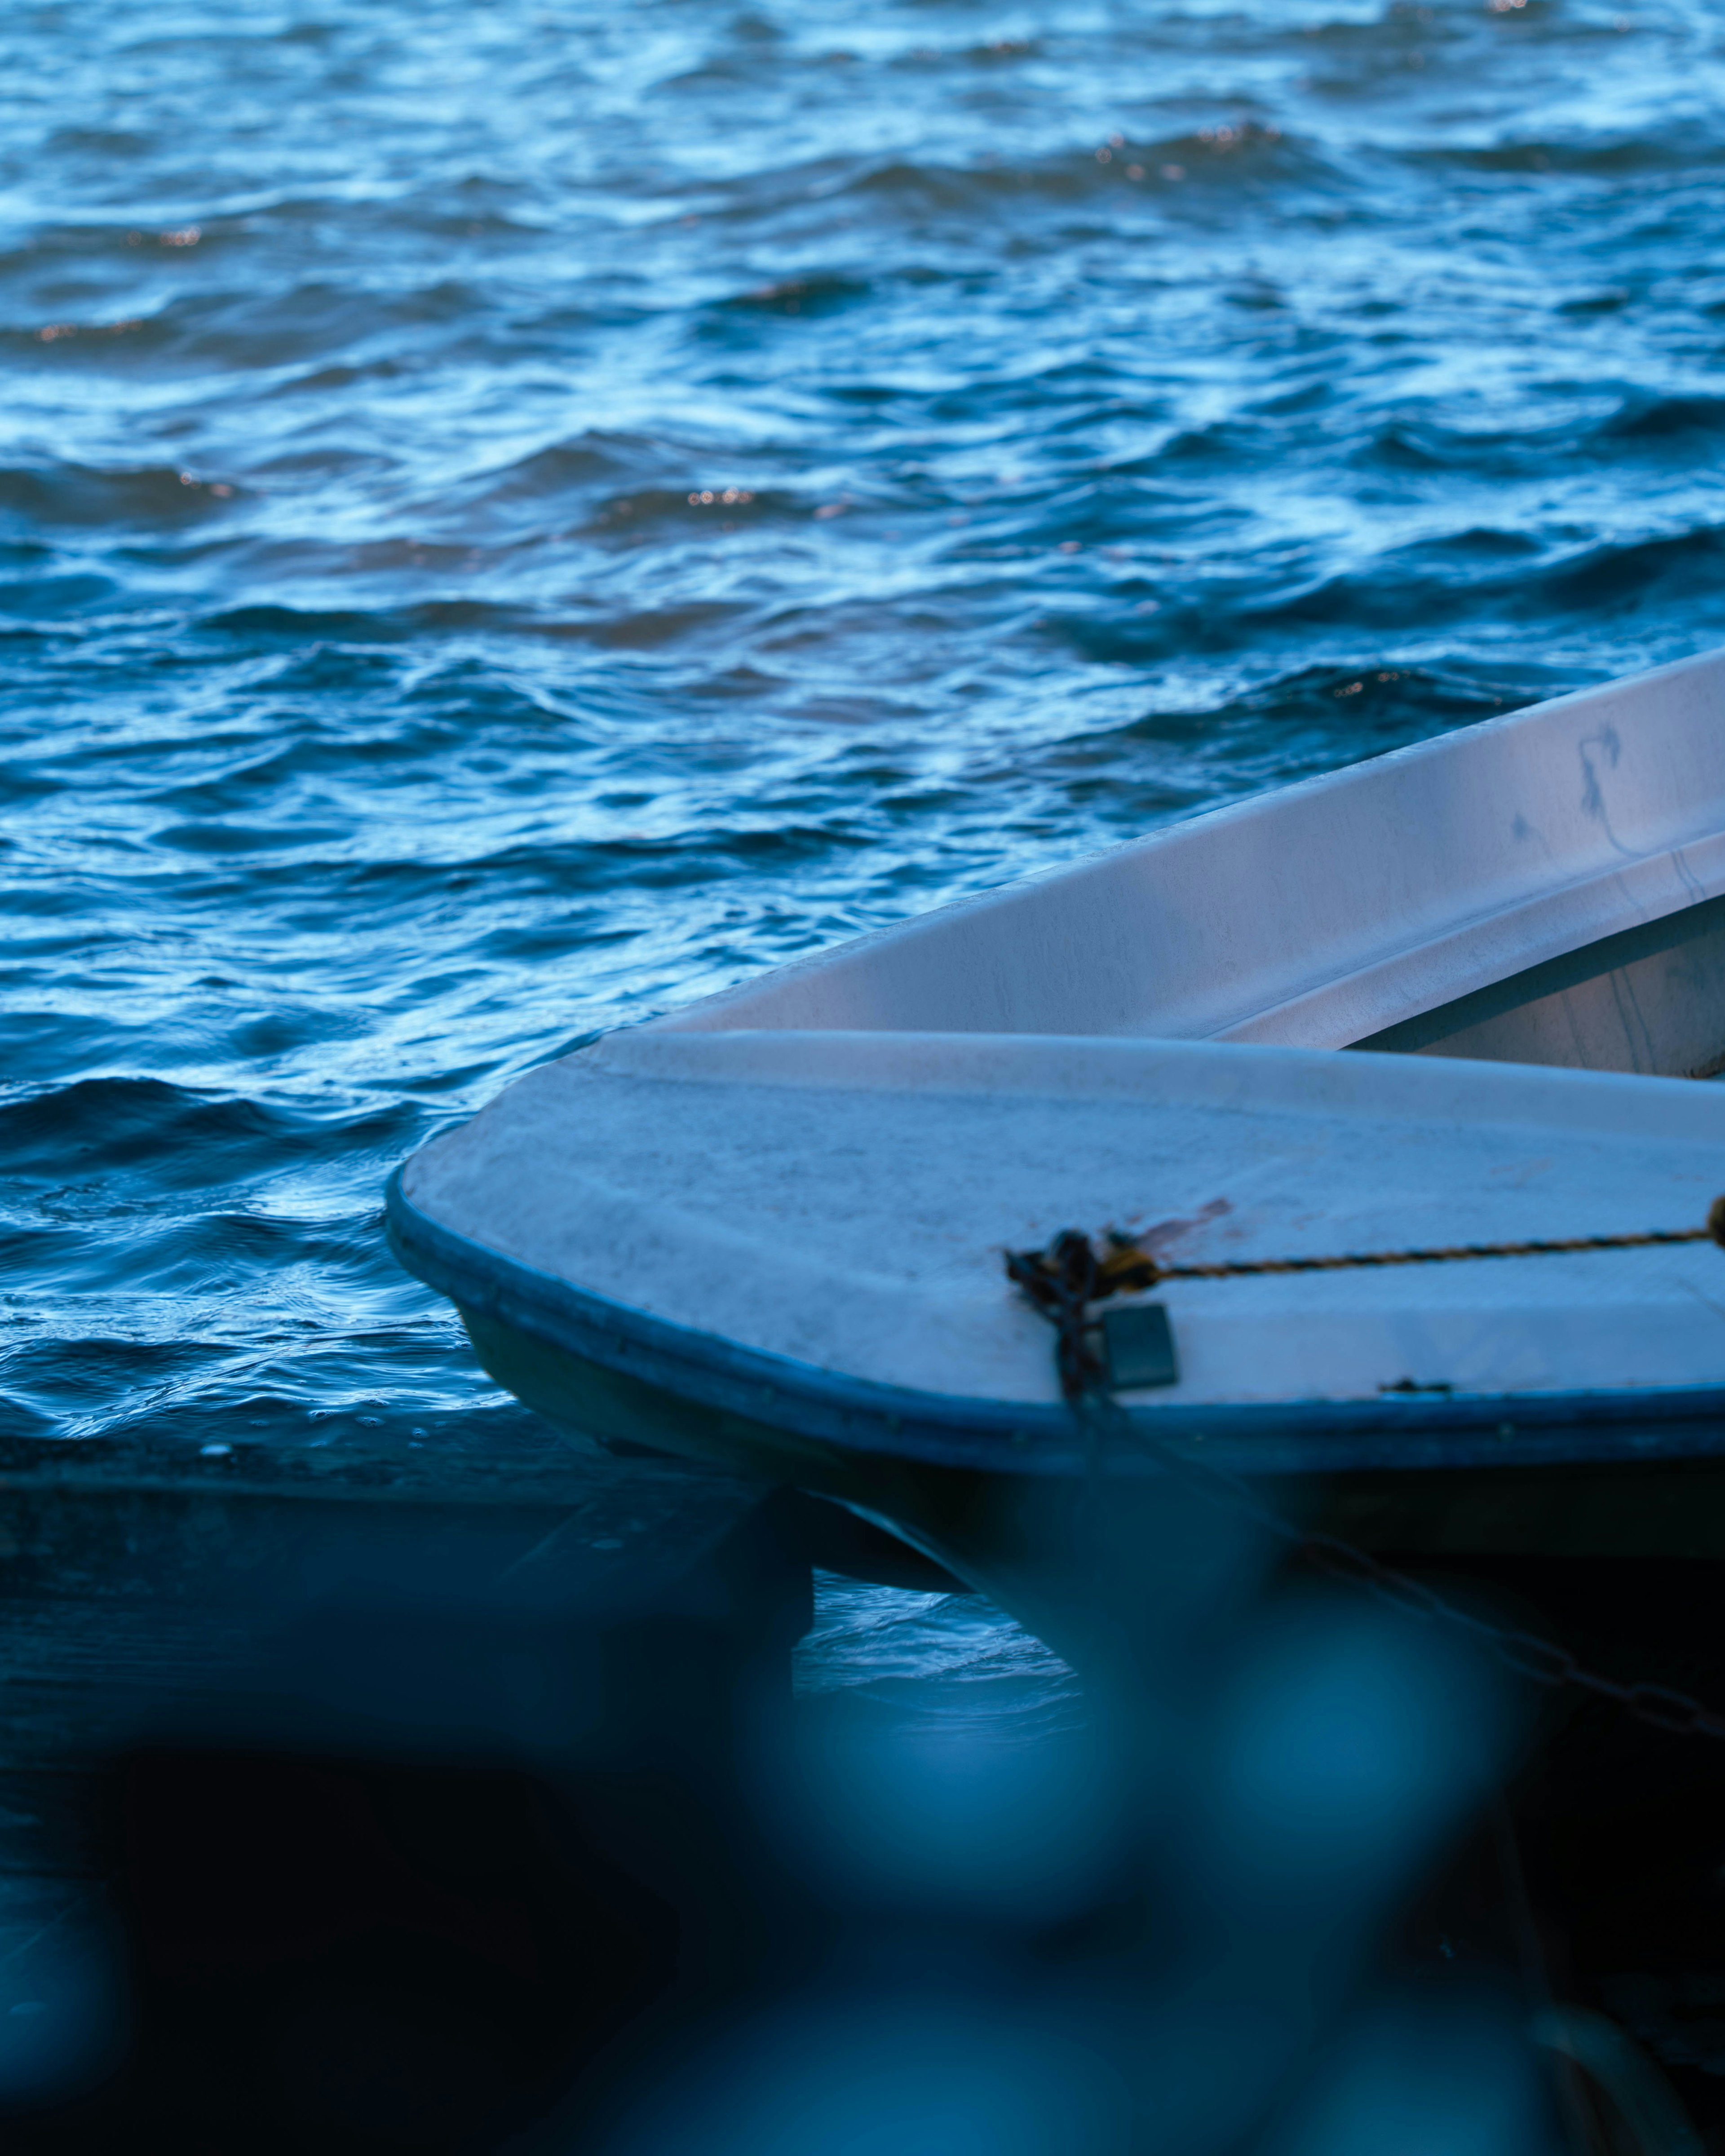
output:
<path id="1" fill-rule="evenodd" d="M 1346 1048 L 1721 893 L 1714 653 L 1158 830 L 660 1026 Z M 1484 1031 L 1473 1011 L 1386 1046 L 1708 1069 L 1725 1059 L 1725 921 L 1695 929 L 1606 951 L 1591 979 L 1533 975 Z"/>

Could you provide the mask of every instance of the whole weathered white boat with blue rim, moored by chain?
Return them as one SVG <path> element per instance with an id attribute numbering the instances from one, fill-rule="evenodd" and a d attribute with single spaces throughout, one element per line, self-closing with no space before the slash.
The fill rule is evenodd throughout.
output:
<path id="1" fill-rule="evenodd" d="M 1108 1473 L 1324 1477 L 1376 1548 L 1719 1557 L 1721 1065 L 1712 655 L 610 1035 L 408 1162 L 390 1233 L 571 1434 L 970 1576 L 979 1477 L 1095 1468 L 1003 1266 L 1063 1229 L 1173 1274 L 1119 1304 L 1162 1317 Z"/>

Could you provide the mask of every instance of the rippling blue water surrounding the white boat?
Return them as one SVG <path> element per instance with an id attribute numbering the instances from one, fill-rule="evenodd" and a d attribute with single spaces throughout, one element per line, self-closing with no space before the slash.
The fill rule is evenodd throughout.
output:
<path id="1" fill-rule="evenodd" d="M 1725 642 L 1723 39 L 17 0 L 6 1425 L 487 1442 L 380 1192 L 526 1065 Z"/>

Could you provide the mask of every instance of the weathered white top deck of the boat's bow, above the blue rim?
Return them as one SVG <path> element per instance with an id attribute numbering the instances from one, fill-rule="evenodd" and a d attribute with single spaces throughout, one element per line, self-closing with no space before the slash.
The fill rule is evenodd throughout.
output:
<path id="1" fill-rule="evenodd" d="M 1725 1089 L 1197 1041 L 640 1028 L 405 1171 L 442 1227 L 696 1332 L 927 1393 L 1050 1401 L 1005 1246 L 1169 1259 L 1682 1229 Z M 1169 1283 L 1143 1406 L 1725 1382 L 1725 1250 Z"/>

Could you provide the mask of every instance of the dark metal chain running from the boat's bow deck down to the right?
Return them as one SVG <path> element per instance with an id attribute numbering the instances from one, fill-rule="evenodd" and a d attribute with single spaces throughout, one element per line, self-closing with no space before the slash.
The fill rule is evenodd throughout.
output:
<path id="1" fill-rule="evenodd" d="M 1721 1225 L 1725 1225 L 1725 1199 L 1714 1203 L 1708 1229 L 1701 1233 L 1716 1235 L 1714 1216 L 1721 1216 Z M 1643 1240 L 1693 1242 L 1699 1238 L 1665 1235 Z M 1574 1244 L 1535 1244 L 1533 1248 L 1574 1248 Z M 1585 1244 L 1585 1248 L 1598 1248 L 1598 1244 Z M 1490 1255 L 1501 1253 L 1490 1250 Z M 1462 1604 L 1447 1600 L 1423 1580 L 1384 1565 L 1369 1550 L 1361 1550 L 1339 1535 L 1309 1533 L 1296 1526 L 1274 1505 L 1266 1505 L 1244 1475 L 1233 1475 L 1229 1468 L 1218 1468 L 1208 1460 L 1195 1460 L 1190 1453 L 1169 1445 L 1167 1438 L 1158 1438 L 1143 1423 L 1134 1423 L 1115 1399 L 1106 1365 L 1093 1345 L 1089 1307 L 1100 1296 L 1117 1294 L 1121 1285 L 1106 1279 L 1104 1266 L 1106 1259 L 1098 1259 L 1089 1238 L 1076 1231 L 1059 1235 L 1046 1253 L 1007 1253 L 1009 1279 L 1024 1287 L 1037 1311 L 1054 1326 L 1054 1367 L 1091 1473 L 1100 1468 L 1108 1440 L 1117 1436 L 1126 1438 L 1136 1451 L 1147 1451 L 1184 1488 L 1212 1505 L 1225 1505 L 1236 1516 L 1244 1516 L 1279 1542 L 1289 1544 L 1309 1565 L 1330 1574 L 1330 1578 L 1352 1580 L 1367 1593 L 1378 1595 L 1380 1602 L 1410 1617 L 1468 1632 L 1520 1677 L 1550 1690 L 1568 1688 L 1589 1692 L 1596 1699 L 1609 1699 L 1637 1720 L 1652 1723 L 1654 1729 L 1665 1729 L 1673 1736 L 1725 1738 L 1725 1714 L 1714 1714 L 1699 1699 L 1645 1680 L 1639 1684 L 1619 1684 L 1615 1677 L 1604 1677 L 1583 1667 L 1568 1647 L 1559 1647 L 1537 1632 L 1518 1632 L 1514 1626 L 1492 1623 L 1490 1617 L 1462 1608 Z M 1167 1276 L 1162 1274 L 1162 1279 Z"/>

